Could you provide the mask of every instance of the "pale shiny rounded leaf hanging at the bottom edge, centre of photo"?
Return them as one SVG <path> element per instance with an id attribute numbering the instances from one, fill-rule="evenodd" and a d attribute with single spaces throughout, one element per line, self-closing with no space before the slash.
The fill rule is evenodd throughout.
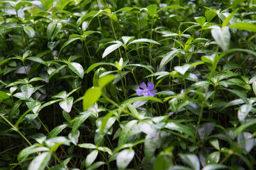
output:
<path id="1" fill-rule="evenodd" d="M 130 164 L 134 155 L 135 152 L 131 149 L 125 149 L 118 153 L 116 157 L 116 166 L 118 167 L 118 170 L 124 170 Z"/>

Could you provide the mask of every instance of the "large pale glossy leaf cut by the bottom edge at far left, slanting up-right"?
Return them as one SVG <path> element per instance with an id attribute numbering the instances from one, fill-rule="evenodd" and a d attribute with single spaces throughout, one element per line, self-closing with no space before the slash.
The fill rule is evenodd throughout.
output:
<path id="1" fill-rule="evenodd" d="M 44 152 L 35 157 L 29 164 L 28 170 L 44 170 L 49 160 L 51 159 L 51 152 Z"/>

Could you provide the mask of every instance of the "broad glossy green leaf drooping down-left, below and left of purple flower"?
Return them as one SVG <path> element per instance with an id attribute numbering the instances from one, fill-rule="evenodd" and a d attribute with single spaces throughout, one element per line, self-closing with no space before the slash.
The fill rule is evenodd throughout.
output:
<path id="1" fill-rule="evenodd" d="M 141 132 L 138 128 L 137 122 L 138 120 L 131 120 L 124 126 L 118 138 L 118 146 L 124 145 L 130 136 Z"/>

